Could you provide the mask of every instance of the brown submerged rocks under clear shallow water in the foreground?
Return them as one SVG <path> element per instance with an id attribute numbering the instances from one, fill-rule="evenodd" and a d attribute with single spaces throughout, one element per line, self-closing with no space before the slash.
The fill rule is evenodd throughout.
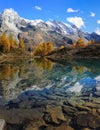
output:
<path id="1" fill-rule="evenodd" d="M 0 106 L 0 118 L 6 130 L 100 130 L 100 98 L 30 91 Z"/>

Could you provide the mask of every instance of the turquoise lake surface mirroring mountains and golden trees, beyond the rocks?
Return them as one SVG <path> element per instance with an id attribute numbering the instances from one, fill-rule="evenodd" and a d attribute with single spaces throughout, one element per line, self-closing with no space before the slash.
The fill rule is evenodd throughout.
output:
<path id="1" fill-rule="evenodd" d="M 99 60 L 55 63 L 35 59 L 0 65 L 0 93 L 5 101 L 15 99 L 28 90 L 99 96 L 99 86 Z"/>

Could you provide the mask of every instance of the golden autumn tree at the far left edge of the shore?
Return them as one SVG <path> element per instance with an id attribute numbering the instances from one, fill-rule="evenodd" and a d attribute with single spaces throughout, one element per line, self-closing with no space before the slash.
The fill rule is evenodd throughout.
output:
<path id="1" fill-rule="evenodd" d="M 0 51 L 9 52 L 10 51 L 10 43 L 6 33 L 2 33 L 0 36 Z"/>

